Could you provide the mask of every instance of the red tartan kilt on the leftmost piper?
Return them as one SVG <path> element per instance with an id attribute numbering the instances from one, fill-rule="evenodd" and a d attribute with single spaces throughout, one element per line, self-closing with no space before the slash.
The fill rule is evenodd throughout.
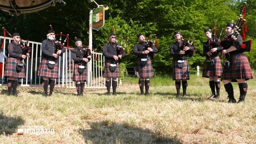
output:
<path id="1" fill-rule="evenodd" d="M 26 78 L 26 67 L 23 64 L 21 72 L 17 72 L 16 63 L 20 62 L 17 58 L 6 58 L 4 76 L 11 76 L 16 78 Z"/>

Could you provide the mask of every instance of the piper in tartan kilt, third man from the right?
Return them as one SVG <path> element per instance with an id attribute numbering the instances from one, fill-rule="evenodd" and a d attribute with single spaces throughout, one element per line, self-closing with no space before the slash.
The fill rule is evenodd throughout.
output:
<path id="1" fill-rule="evenodd" d="M 183 96 L 186 95 L 187 80 L 189 80 L 187 56 L 192 55 L 195 49 L 194 46 L 187 45 L 181 38 L 181 33 L 175 31 L 175 43 L 170 45 L 170 56 L 173 57 L 173 80 L 175 80 L 175 87 L 177 90 L 176 97 L 180 97 L 181 80 Z"/>

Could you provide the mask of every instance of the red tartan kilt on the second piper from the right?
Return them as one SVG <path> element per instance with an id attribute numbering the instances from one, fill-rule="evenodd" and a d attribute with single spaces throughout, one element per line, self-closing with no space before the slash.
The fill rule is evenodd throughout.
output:
<path id="1" fill-rule="evenodd" d="M 214 60 L 214 66 L 210 66 L 210 64 L 205 61 L 204 68 L 203 68 L 203 74 L 202 77 L 213 77 L 213 76 L 219 76 L 221 77 L 222 74 L 222 65 L 220 62 L 219 57 L 212 58 Z"/>

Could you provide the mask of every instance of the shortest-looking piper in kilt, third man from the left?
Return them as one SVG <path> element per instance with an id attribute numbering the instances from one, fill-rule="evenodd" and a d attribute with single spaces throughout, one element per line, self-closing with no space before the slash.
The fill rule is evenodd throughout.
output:
<path id="1" fill-rule="evenodd" d="M 72 58 L 74 61 L 73 81 L 76 81 L 76 89 L 78 95 L 83 95 L 84 84 L 87 81 L 87 63 L 91 59 L 91 54 L 88 55 L 89 50 L 82 46 L 81 39 L 76 39 L 76 48 L 73 49 Z"/>

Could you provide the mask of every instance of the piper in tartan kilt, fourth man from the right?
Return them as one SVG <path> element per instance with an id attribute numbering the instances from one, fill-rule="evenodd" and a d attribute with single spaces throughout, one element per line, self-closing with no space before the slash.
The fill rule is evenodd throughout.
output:
<path id="1" fill-rule="evenodd" d="M 137 55 L 137 64 L 135 70 L 135 76 L 139 78 L 139 87 L 141 94 L 149 94 L 150 78 L 154 76 L 154 71 L 151 63 L 153 55 L 158 52 L 155 45 L 147 45 L 146 39 L 142 33 L 137 35 L 139 41 L 138 44 L 134 45 L 133 54 Z M 145 81 L 144 81 L 145 80 Z"/>

